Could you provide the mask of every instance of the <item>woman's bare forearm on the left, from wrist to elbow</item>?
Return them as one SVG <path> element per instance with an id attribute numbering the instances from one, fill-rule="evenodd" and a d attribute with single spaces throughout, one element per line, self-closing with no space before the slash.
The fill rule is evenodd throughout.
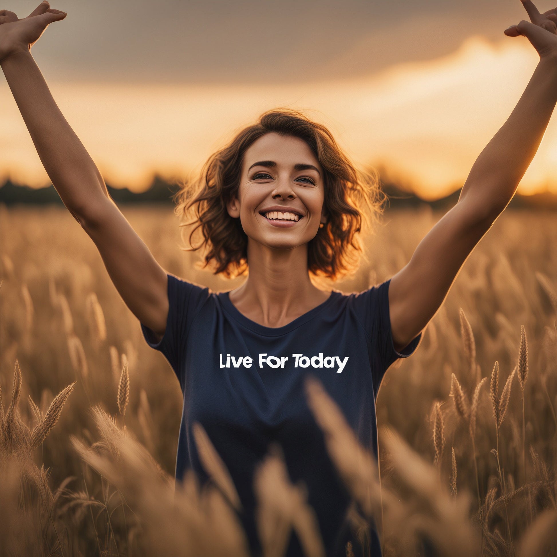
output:
<path id="1" fill-rule="evenodd" d="M 74 216 L 80 216 L 108 190 L 95 163 L 67 123 L 30 51 L 4 58 L 0 66 L 38 156 Z"/>

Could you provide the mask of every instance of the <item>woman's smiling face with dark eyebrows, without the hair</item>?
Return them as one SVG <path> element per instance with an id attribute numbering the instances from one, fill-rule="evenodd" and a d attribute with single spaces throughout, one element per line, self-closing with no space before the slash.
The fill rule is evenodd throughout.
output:
<path id="1" fill-rule="evenodd" d="M 323 169 L 307 143 L 267 133 L 246 150 L 228 214 L 250 241 L 289 250 L 315 237 L 324 216 Z"/>

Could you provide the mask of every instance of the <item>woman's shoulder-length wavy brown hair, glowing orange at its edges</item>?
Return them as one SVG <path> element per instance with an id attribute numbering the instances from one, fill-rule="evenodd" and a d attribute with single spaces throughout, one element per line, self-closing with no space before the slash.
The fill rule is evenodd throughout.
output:
<path id="1" fill-rule="evenodd" d="M 185 219 L 180 227 L 193 226 L 190 248 L 204 248 L 203 267 L 232 278 L 248 270 L 247 234 L 239 218 L 227 212 L 227 203 L 240 187 L 243 155 L 268 133 L 303 139 L 324 171 L 327 222 L 308 245 L 307 266 L 316 276 L 333 280 L 358 268 L 361 243 L 358 233 L 371 225 L 383 211 L 385 194 L 379 188 L 377 171 L 358 170 L 324 125 L 292 109 L 275 109 L 262 114 L 203 165 L 199 177 L 184 180 L 174 195 L 174 212 Z M 194 245 L 194 236 L 201 237 Z"/>

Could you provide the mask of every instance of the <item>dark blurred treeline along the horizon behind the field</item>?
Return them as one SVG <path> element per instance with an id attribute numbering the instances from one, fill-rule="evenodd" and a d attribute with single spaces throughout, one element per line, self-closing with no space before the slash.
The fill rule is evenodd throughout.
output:
<path id="1" fill-rule="evenodd" d="M 114 199 L 116 204 L 166 204 L 172 206 L 172 197 L 178 192 L 179 185 L 170 183 L 163 178 L 155 175 L 150 187 L 141 193 L 131 192 L 128 188 L 113 188 L 106 184 L 110 197 Z M 389 197 L 389 208 L 401 207 L 417 207 L 427 204 L 432 209 L 447 210 L 455 205 L 460 196 L 460 189 L 447 197 L 436 199 L 434 201 L 426 201 L 415 194 L 400 188 L 397 184 L 383 182 L 384 192 Z M 46 205 L 55 204 L 62 205 L 62 200 L 54 189 L 53 185 L 46 188 L 33 189 L 25 185 L 14 184 L 10 180 L 6 180 L 0 185 L 0 203 L 6 206 L 14 205 Z M 521 196 L 519 194 L 512 198 L 509 205 L 512 208 L 536 208 L 548 209 L 550 211 L 557 210 L 557 196 L 551 193 L 539 193 L 534 196 Z"/>

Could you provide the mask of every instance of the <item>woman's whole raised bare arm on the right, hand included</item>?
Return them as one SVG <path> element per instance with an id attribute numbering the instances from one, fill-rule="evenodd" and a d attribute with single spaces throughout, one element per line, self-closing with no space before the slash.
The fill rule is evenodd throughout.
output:
<path id="1" fill-rule="evenodd" d="M 472 166 L 455 207 L 392 277 L 390 320 L 397 349 L 436 314 L 463 263 L 509 204 L 557 103 L 557 8 L 540 14 L 531 0 L 521 1 L 532 21 L 523 20 L 505 34 L 526 36 L 540 61 L 515 109 Z"/>

